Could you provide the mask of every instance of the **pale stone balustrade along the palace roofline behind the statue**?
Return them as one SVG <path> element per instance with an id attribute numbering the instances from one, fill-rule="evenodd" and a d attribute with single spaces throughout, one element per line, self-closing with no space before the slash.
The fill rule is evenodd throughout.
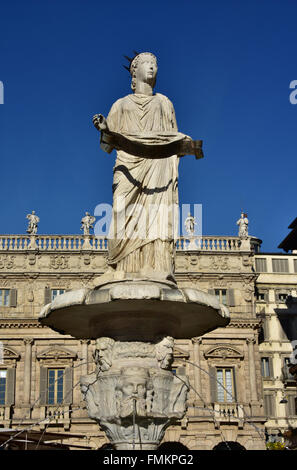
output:
<path id="1" fill-rule="evenodd" d="M 242 249 L 239 237 L 180 237 L 177 251 L 234 252 Z M 0 235 L 1 251 L 107 250 L 107 238 L 95 235 Z"/>

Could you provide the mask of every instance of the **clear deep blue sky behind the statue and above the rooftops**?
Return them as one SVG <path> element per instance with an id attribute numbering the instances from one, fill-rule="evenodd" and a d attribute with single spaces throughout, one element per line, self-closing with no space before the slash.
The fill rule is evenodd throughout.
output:
<path id="1" fill-rule="evenodd" d="M 182 159 L 180 202 L 203 204 L 203 233 L 250 234 L 275 251 L 297 216 L 295 0 L 1 2 L 0 233 L 81 233 L 85 210 L 112 200 L 115 155 L 92 125 L 131 92 L 123 55 L 158 57 L 156 92 L 179 130 L 203 139 Z"/>

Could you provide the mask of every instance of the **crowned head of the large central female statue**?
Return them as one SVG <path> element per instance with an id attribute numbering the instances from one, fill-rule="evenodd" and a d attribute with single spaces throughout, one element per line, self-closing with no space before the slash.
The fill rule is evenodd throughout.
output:
<path id="1" fill-rule="evenodd" d="M 137 54 L 130 63 L 130 74 L 132 76 L 131 88 L 135 91 L 138 80 L 149 83 L 153 88 L 157 78 L 157 58 L 151 52 Z"/>

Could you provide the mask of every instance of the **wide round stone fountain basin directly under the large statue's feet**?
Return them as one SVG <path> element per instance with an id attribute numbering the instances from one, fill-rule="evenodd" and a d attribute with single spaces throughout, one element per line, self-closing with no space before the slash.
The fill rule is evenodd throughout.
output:
<path id="1" fill-rule="evenodd" d="M 158 336 L 191 338 L 229 323 L 228 309 L 197 289 L 161 289 L 153 283 L 119 283 L 57 297 L 39 317 L 42 324 L 76 338 L 110 336 L 149 341 Z"/>

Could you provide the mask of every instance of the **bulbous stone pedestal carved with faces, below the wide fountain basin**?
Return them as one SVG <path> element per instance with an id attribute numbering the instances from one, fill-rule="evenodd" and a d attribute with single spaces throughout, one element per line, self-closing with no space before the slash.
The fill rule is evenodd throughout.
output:
<path id="1" fill-rule="evenodd" d="M 175 376 L 173 338 L 158 343 L 99 338 L 96 371 L 81 377 L 90 418 L 116 449 L 155 449 L 168 426 L 184 416 L 186 376 Z"/>

